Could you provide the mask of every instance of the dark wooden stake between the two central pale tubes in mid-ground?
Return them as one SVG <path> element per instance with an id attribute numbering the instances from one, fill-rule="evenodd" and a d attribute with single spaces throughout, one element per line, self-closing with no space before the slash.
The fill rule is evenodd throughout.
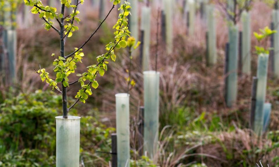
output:
<path id="1" fill-rule="evenodd" d="M 138 124 L 138 130 L 139 130 L 139 137 L 138 137 L 138 151 L 139 151 L 139 155 L 142 156 L 143 155 L 143 144 L 144 144 L 144 107 L 141 106 L 140 107 L 140 115 L 139 115 L 139 124 Z"/>

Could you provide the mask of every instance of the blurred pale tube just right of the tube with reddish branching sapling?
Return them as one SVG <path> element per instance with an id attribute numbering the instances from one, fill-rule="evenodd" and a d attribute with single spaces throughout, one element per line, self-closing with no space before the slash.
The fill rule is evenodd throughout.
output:
<path id="1" fill-rule="evenodd" d="M 241 16 L 242 21 L 242 72 L 251 74 L 251 19 L 250 13 L 243 11 Z"/>

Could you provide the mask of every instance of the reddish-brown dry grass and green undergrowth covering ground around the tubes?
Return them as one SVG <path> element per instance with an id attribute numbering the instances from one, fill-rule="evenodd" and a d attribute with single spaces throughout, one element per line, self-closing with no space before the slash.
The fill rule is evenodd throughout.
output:
<path id="1" fill-rule="evenodd" d="M 143 76 L 139 57 L 133 57 L 131 77 L 136 81 L 130 91 L 131 166 L 255 166 L 263 164 L 279 166 L 279 88 L 278 80 L 269 77 L 267 101 L 272 103 L 271 121 L 262 138 L 255 136 L 249 127 L 251 76 L 256 74 L 257 55 L 252 55 L 252 75 L 239 77 L 237 106 L 227 108 L 223 98 L 224 48 L 227 28 L 224 18 L 217 17 L 218 58 L 214 67 L 206 66 L 204 25 L 196 17 L 194 37 L 186 35 L 186 23 L 182 20 L 181 1 L 176 1 L 174 24 L 174 52 L 167 56 L 159 43 L 158 70 L 160 85 L 160 149 L 156 165 L 137 153 L 136 135 L 139 106 L 143 105 Z M 90 3 L 89 1 L 86 3 Z M 110 4 L 108 4 L 110 5 Z M 142 6 L 143 4 L 140 4 Z M 17 26 L 17 76 L 13 88 L 0 83 L 0 166 L 50 167 L 55 166 L 55 116 L 62 114 L 61 96 L 49 90 L 34 72 L 39 65 L 52 71 L 48 61 L 52 53 L 59 54 L 56 32 L 47 32 L 42 21 L 34 17 L 29 28 L 21 26 L 19 6 Z M 96 9 L 96 8 L 95 8 Z M 108 9 L 108 8 L 107 8 Z M 99 23 L 98 10 L 83 5 L 80 30 L 68 39 L 71 48 L 80 46 Z M 252 32 L 269 25 L 269 3 L 255 1 L 252 14 Z M 152 12 L 152 20 L 157 18 Z M 98 31 L 89 45 L 83 48 L 85 58 L 77 73 L 94 63 L 95 57 L 104 51 L 104 45 L 112 40 L 111 27 L 117 19 L 117 10 Z M 197 13 L 199 16 L 199 13 Z M 155 65 L 156 21 L 151 23 L 151 66 Z M 256 39 L 252 38 L 252 46 Z M 254 52 L 254 50 L 253 50 Z M 111 139 L 115 132 L 115 93 L 126 90 L 128 68 L 127 50 L 117 53 L 116 63 L 111 63 L 108 76 L 100 78 L 99 88 L 87 100 L 78 105 L 70 115 L 81 116 L 81 166 L 109 166 Z M 71 81 L 76 78 L 72 76 Z M 68 91 L 74 98 L 78 87 Z M 69 104 L 73 102 L 69 100 Z"/>

